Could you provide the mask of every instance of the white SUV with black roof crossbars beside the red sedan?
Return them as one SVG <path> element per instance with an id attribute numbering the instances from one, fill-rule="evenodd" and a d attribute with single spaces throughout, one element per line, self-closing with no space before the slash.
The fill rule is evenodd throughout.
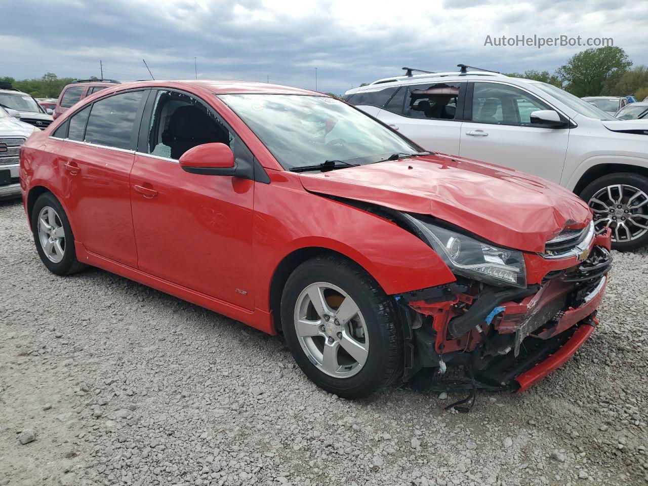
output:
<path id="1" fill-rule="evenodd" d="M 345 98 L 427 150 L 550 179 L 589 202 L 614 248 L 648 244 L 648 120 L 619 121 L 550 84 L 469 69 L 375 81 Z"/>

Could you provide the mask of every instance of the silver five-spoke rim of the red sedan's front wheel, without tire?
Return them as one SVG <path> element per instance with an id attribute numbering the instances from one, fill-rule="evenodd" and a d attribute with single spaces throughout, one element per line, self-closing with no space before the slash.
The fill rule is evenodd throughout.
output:
<path id="1" fill-rule="evenodd" d="M 369 354 L 369 336 L 358 305 L 340 287 L 318 282 L 295 303 L 297 340 L 308 359 L 334 378 L 360 372 Z"/>

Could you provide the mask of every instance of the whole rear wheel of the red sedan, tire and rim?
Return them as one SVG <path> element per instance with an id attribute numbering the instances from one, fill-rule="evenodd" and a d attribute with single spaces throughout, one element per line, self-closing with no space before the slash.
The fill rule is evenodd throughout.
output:
<path id="1" fill-rule="evenodd" d="M 51 192 L 41 194 L 32 209 L 32 233 L 41 261 L 56 275 L 86 268 L 76 259 L 75 238 L 67 215 Z"/>

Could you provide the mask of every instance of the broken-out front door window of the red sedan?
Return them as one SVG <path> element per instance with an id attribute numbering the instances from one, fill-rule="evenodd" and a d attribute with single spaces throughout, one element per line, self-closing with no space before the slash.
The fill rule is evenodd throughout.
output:
<path id="1" fill-rule="evenodd" d="M 158 91 L 148 128 L 147 153 L 178 160 L 196 145 L 224 143 L 236 154 L 235 136 L 189 95 Z"/>

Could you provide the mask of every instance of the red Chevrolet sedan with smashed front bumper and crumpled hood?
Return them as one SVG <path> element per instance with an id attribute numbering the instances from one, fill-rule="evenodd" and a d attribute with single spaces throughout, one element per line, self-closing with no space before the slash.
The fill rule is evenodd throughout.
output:
<path id="1" fill-rule="evenodd" d="M 20 181 L 51 272 L 97 266 L 281 333 L 343 397 L 451 365 L 526 389 L 592 333 L 612 260 L 572 192 L 269 84 L 104 89 L 29 137 Z"/>

